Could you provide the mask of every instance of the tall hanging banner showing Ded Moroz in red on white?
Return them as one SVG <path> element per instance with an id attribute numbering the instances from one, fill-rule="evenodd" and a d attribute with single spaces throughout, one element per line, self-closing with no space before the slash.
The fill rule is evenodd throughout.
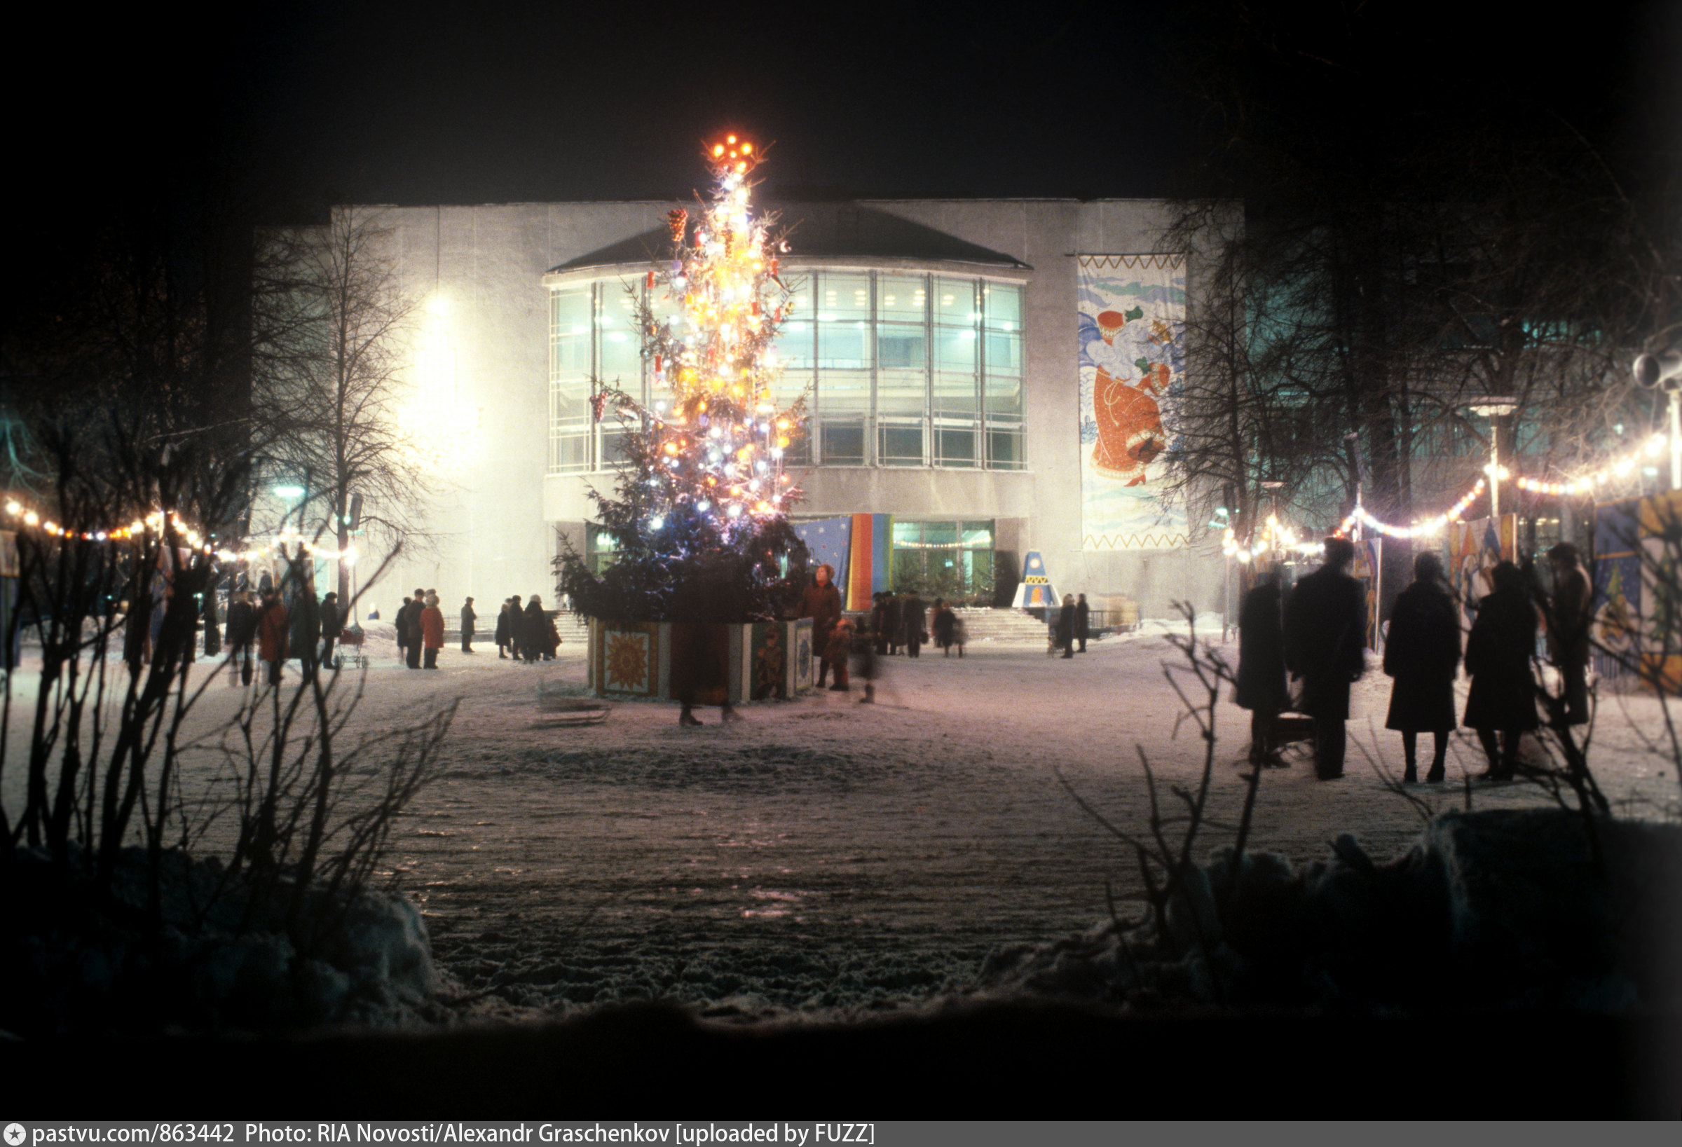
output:
<path id="1" fill-rule="evenodd" d="M 1186 370 L 1186 256 L 1080 256 L 1083 550 L 1187 542 L 1167 452 Z"/>

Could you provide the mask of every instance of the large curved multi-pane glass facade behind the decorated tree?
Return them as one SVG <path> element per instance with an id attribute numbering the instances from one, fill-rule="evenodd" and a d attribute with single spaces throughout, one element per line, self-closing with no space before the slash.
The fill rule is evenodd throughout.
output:
<path id="1" fill-rule="evenodd" d="M 804 394 L 807 407 L 789 464 L 1026 466 L 1019 284 L 886 271 L 784 279 L 792 311 L 777 336 L 777 399 Z M 649 399 L 639 289 L 617 278 L 550 289 L 552 474 L 617 457 L 617 422 L 590 420 L 592 377 Z"/>

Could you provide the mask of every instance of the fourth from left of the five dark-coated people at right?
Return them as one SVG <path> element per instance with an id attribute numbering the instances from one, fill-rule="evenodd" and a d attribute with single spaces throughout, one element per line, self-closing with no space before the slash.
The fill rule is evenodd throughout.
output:
<path id="1" fill-rule="evenodd" d="M 1500 562 L 1490 579 L 1495 589 L 1478 604 L 1477 621 L 1467 636 L 1467 728 L 1489 757 L 1484 780 L 1512 780 L 1519 764 L 1519 740 L 1536 728 L 1536 607 L 1524 589 L 1524 574 L 1512 562 Z M 1495 733 L 1500 733 L 1500 743 Z"/>

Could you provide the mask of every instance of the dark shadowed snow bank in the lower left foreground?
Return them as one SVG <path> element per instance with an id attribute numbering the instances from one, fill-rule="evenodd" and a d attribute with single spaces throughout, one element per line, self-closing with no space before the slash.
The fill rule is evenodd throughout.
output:
<path id="1" fill-rule="evenodd" d="M 394 1026 L 437 1018 L 439 977 L 426 925 L 405 896 L 363 891 L 309 900 L 325 922 L 313 955 L 284 925 L 283 885 L 252 903 L 217 861 L 161 858 L 161 927 L 148 923 L 143 848 L 128 848 L 103 898 L 40 849 L 20 849 L 8 881 L 0 975 L 12 991 L 0 1028 L 13 1033 L 293 1029 Z M 308 927 L 308 925 L 306 925 Z"/>

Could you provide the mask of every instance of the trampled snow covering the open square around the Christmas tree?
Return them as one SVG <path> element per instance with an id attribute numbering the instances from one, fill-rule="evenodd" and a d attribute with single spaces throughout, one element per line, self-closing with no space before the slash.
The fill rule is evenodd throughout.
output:
<path id="1" fill-rule="evenodd" d="M 1149 807 L 1135 747 L 1159 779 L 1196 779 L 1201 743 L 1186 728 L 1174 738 L 1181 706 L 1161 666 L 1177 654 L 1162 631 L 1071 661 L 1038 642 L 891 658 L 876 706 L 858 703 L 854 683 L 743 706 L 733 725 L 706 710 L 705 728 L 681 728 L 673 705 L 614 703 L 602 725 L 548 728 L 538 686 L 582 695 L 580 646 L 540 666 L 486 644 L 446 649 L 426 673 L 399 666 L 375 629 L 357 725 L 399 728 L 461 698 L 449 765 L 400 826 L 394 859 L 466 991 L 520 1007 L 666 996 L 723 1014 L 870 1009 L 962 987 L 997 945 L 1088 928 L 1107 915 L 1107 881 L 1117 896 L 1137 888 L 1130 858 L 1053 769 L 1129 827 Z M 17 686 L 27 700 L 27 673 Z M 225 718 L 237 695 L 217 683 L 195 723 Z M 1416 838 L 1420 814 L 1357 748 L 1399 774 L 1399 735 L 1379 728 L 1388 696 L 1376 671 L 1356 686 L 1342 780 L 1317 782 L 1300 760 L 1268 770 L 1251 848 L 1307 861 L 1344 831 L 1373 856 Z M 1248 715 L 1223 701 L 1218 722 L 1213 814 L 1231 822 Z M 24 723 L 12 723 L 13 753 Z M 1620 811 L 1674 816 L 1674 767 L 1642 747 L 1643 732 L 1662 732 L 1657 703 L 1610 698 L 1591 760 Z M 1457 738 L 1450 784 L 1415 792 L 1463 807 L 1462 777 L 1482 767 Z M 19 809 L 17 764 L 3 792 Z M 1546 797 L 1478 785 L 1473 801 Z M 1209 832 L 1198 854 L 1228 838 Z"/>

